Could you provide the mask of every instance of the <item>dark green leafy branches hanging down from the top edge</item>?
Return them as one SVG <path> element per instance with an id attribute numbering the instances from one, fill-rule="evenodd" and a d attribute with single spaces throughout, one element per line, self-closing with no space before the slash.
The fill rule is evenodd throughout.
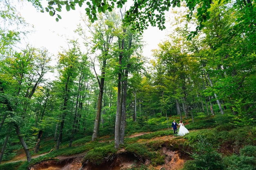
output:
<path id="1" fill-rule="evenodd" d="M 31 1 L 31 0 L 29 0 Z M 38 0 L 36 0 L 38 1 Z M 147 29 L 149 24 L 151 26 L 157 26 L 160 30 L 165 29 L 165 12 L 170 7 L 180 7 L 182 0 L 132 0 L 130 9 L 126 11 L 124 22 L 128 25 L 132 25 L 134 29 L 139 29 L 143 32 Z M 193 11 L 198 4 L 200 7 L 197 9 L 197 18 L 199 26 L 196 28 L 195 33 L 202 29 L 202 22 L 209 19 L 209 12 L 207 11 L 211 7 L 211 0 L 184 0 L 186 6 L 191 11 L 188 18 L 191 18 Z M 128 0 L 49 0 L 48 6 L 41 12 L 49 13 L 49 15 L 56 15 L 56 21 L 61 19 L 59 13 L 64 9 L 70 11 L 75 10 L 76 5 L 82 7 L 86 5 L 85 11 L 89 16 L 89 19 L 94 22 L 97 20 L 97 13 L 105 13 L 106 11 L 112 11 L 115 7 L 122 8 L 130 2 Z M 40 5 L 40 4 L 39 4 Z"/>

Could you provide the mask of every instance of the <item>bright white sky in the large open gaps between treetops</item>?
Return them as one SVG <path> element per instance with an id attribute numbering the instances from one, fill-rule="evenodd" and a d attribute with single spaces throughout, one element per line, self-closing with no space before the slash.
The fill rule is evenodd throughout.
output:
<path id="1" fill-rule="evenodd" d="M 67 46 L 66 38 L 77 38 L 74 33 L 77 25 L 80 22 L 80 13 L 85 13 L 85 7 L 76 6 L 76 10 L 67 12 L 65 9 L 61 12 L 62 19 L 59 22 L 55 21 L 55 16 L 49 16 L 49 13 L 41 13 L 37 11 L 31 3 L 24 2 L 20 7 L 20 15 L 25 18 L 26 22 L 34 25 L 34 33 L 28 35 L 26 43 L 39 48 L 45 47 L 50 53 L 56 55 L 61 51 L 61 46 Z M 167 17 L 167 16 L 166 16 Z M 168 25 L 166 24 L 168 28 Z M 150 27 L 144 31 L 144 46 L 143 55 L 150 57 L 152 49 L 157 48 L 157 44 L 165 39 L 167 30 L 160 31 L 157 27 Z"/>

